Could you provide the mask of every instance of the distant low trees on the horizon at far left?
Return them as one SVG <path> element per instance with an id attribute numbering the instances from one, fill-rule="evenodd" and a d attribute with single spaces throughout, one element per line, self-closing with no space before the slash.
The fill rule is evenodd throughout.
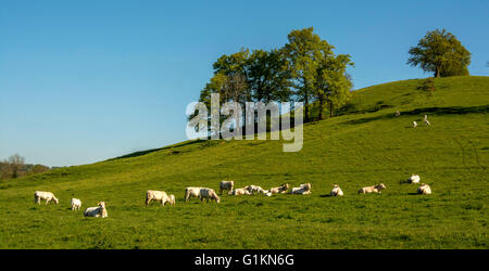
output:
<path id="1" fill-rule="evenodd" d="M 46 172 L 49 169 L 49 167 L 43 165 L 25 164 L 25 158 L 18 154 L 15 154 L 3 162 L 0 162 L 0 179 L 16 179 L 29 175 Z"/>

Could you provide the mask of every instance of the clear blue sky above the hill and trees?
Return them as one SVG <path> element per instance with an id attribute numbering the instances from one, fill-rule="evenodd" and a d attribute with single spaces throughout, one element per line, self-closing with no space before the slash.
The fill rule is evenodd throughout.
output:
<path id="1" fill-rule="evenodd" d="M 489 75 L 489 1 L 0 2 L 0 159 L 70 166 L 186 140 L 185 109 L 221 54 L 292 29 L 349 53 L 355 89 L 430 76 L 405 64 L 444 27 Z"/>

